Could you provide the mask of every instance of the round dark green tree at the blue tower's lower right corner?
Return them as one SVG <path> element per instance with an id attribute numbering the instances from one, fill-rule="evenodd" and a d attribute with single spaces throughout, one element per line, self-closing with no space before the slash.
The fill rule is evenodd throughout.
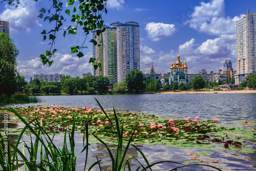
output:
<path id="1" fill-rule="evenodd" d="M 138 94 L 140 90 L 144 89 L 143 73 L 138 69 L 127 72 L 125 82 L 130 92 L 135 91 L 135 93 Z"/>

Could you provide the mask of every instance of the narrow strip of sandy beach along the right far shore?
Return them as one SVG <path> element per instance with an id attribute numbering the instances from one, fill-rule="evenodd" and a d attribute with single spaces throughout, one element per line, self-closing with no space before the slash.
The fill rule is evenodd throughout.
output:
<path id="1" fill-rule="evenodd" d="M 256 90 L 231 90 L 231 91 L 168 91 L 158 92 L 160 94 L 207 94 L 207 93 L 256 93 Z"/>

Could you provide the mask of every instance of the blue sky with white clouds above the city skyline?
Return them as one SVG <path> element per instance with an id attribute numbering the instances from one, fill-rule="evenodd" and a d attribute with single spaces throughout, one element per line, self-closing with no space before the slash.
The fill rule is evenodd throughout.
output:
<path id="1" fill-rule="evenodd" d="M 70 54 L 70 47 L 81 45 L 82 32 L 59 35 L 55 48 L 57 53 L 51 67 L 43 66 L 38 56 L 50 47 L 43 40 L 42 30 L 49 23 L 37 17 L 41 8 L 49 9 L 49 1 L 21 0 L 18 8 L 0 4 L 0 20 L 10 23 L 10 37 L 19 49 L 18 70 L 27 80 L 33 74 L 60 73 L 73 77 L 92 72 L 88 63 L 92 56 L 92 45 L 88 42 L 83 49 L 84 57 Z M 143 73 L 149 73 L 152 62 L 156 73 L 170 72 L 172 61 L 187 61 L 188 73 L 201 69 L 217 72 L 226 59 L 236 66 L 236 21 L 246 14 L 256 12 L 254 0 L 109 0 L 108 13 L 103 14 L 104 24 L 136 22 L 140 26 L 140 61 Z M 66 15 L 68 18 L 68 16 Z M 67 23 L 65 27 L 68 27 Z"/>

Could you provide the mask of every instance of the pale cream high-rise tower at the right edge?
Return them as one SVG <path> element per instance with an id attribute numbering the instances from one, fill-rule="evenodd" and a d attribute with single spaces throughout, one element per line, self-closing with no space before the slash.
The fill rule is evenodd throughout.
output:
<path id="1" fill-rule="evenodd" d="M 256 13 L 249 13 L 237 22 L 237 73 L 236 84 L 245 80 L 250 73 L 256 72 Z"/>

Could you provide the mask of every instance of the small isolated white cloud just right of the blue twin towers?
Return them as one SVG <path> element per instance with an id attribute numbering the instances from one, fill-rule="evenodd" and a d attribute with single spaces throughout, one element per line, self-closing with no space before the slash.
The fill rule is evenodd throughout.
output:
<path id="1" fill-rule="evenodd" d="M 174 24 L 148 23 L 145 27 L 148 37 L 153 41 L 159 41 L 165 37 L 170 37 L 177 32 Z"/>

